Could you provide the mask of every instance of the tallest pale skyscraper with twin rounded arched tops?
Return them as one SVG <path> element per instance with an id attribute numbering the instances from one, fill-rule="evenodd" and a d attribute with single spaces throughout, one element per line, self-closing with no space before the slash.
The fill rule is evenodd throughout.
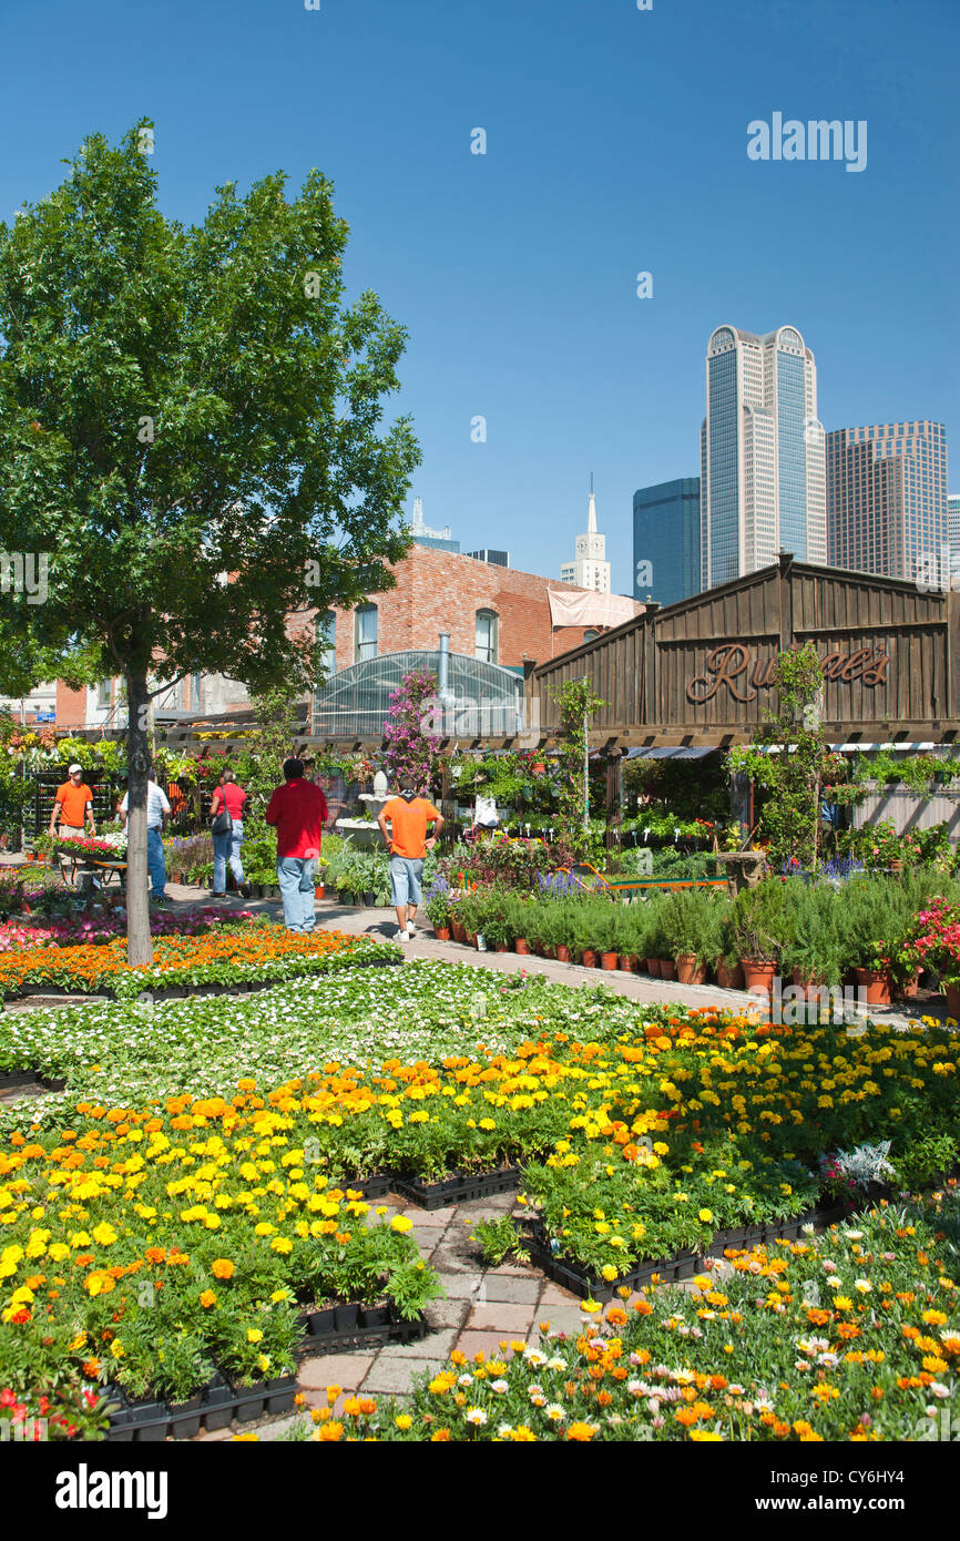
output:
<path id="1" fill-rule="evenodd" d="M 826 562 L 826 467 L 817 365 L 795 327 L 718 327 L 700 430 L 701 586 L 767 567 L 778 552 Z"/>

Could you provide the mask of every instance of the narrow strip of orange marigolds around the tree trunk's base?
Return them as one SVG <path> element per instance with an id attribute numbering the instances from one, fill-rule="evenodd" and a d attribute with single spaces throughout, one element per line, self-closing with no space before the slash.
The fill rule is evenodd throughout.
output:
<path id="1" fill-rule="evenodd" d="M 391 943 L 350 937 L 339 931 L 288 932 L 280 926 L 185 937 L 166 935 L 154 948 L 154 963 L 131 968 L 126 943 L 116 940 L 71 948 L 37 948 L 0 957 L 0 991 L 63 989 L 134 999 L 170 986 L 248 985 L 297 979 L 344 963 L 393 963 L 402 957 Z"/>

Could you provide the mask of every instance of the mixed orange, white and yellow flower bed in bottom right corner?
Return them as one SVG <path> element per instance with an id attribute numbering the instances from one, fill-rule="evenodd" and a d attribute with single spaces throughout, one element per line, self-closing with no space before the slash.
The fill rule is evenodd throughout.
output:
<path id="1" fill-rule="evenodd" d="M 952 1205 L 955 1224 L 955 1196 Z M 606 1313 L 587 1302 L 576 1338 L 504 1342 L 473 1361 L 455 1351 L 399 1415 L 390 1402 L 351 1402 L 342 1419 L 324 1408 L 290 1438 L 937 1438 L 960 1358 L 940 1219 L 881 1208 L 855 1227 L 741 1251 L 730 1279 L 706 1271 L 695 1294 L 655 1288 Z"/>

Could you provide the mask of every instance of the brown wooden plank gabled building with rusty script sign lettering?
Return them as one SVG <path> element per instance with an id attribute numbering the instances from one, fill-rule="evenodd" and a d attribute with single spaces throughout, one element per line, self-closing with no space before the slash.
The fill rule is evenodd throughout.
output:
<path id="1" fill-rule="evenodd" d="M 923 593 L 871 573 L 781 555 L 772 567 L 646 613 L 539 664 L 530 721 L 558 724 L 552 692 L 589 676 L 607 704 L 593 744 L 726 747 L 775 709 L 777 655 L 814 643 L 835 743 L 954 743 L 960 737 L 960 593 Z M 538 717 L 539 713 L 539 717 Z"/>

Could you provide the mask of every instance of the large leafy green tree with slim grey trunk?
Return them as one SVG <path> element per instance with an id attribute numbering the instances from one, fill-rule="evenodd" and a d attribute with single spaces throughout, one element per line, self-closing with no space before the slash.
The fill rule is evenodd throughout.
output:
<path id="1" fill-rule="evenodd" d="M 151 678 L 321 678 L 307 612 L 393 586 L 419 462 L 408 419 L 378 431 L 405 331 L 373 293 L 342 304 L 330 183 L 314 170 L 291 202 L 280 173 L 245 199 L 228 183 L 183 228 L 142 128 L 86 140 L 0 225 L 0 547 L 48 562 L 45 603 L 3 593 L 0 641 L 34 680 L 52 652 L 125 681 L 131 963 L 153 957 Z"/>

